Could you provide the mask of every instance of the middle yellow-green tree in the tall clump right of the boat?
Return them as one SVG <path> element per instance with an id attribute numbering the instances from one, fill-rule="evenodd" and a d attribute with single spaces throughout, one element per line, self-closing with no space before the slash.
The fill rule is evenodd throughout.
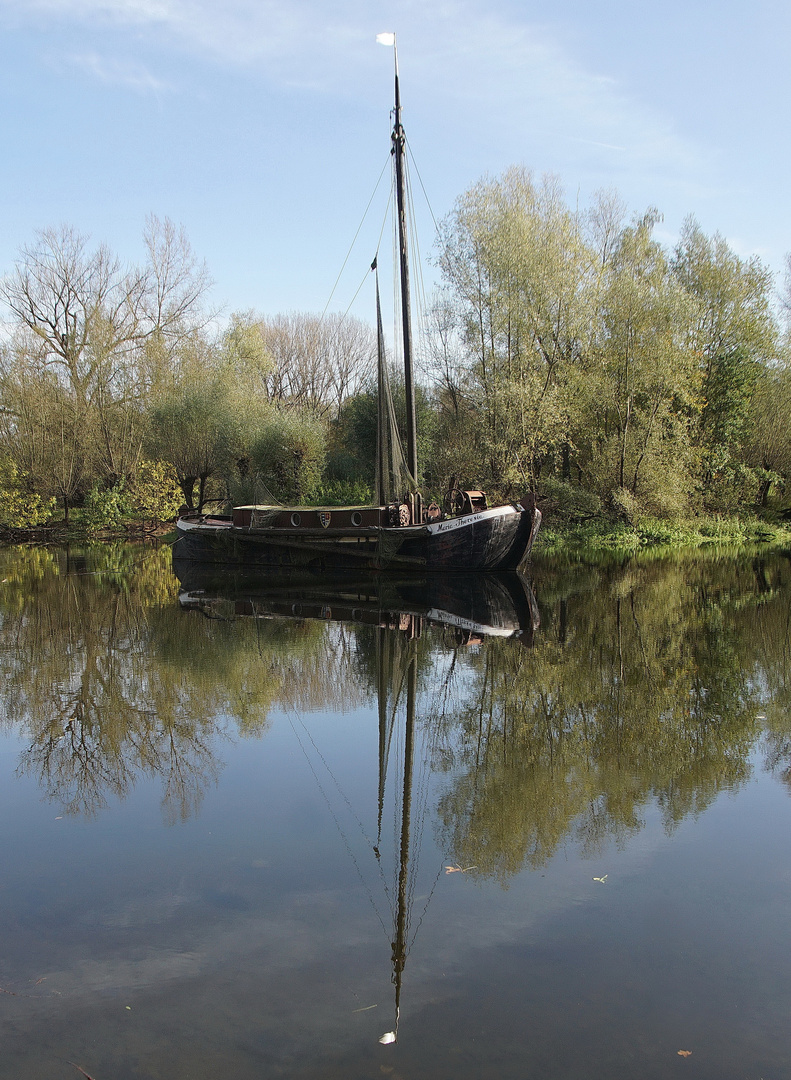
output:
<path id="1" fill-rule="evenodd" d="M 605 266 L 596 340 L 585 365 L 585 465 L 618 509 L 681 512 L 695 475 L 699 406 L 687 305 L 653 239 L 649 212 L 622 229 Z"/>

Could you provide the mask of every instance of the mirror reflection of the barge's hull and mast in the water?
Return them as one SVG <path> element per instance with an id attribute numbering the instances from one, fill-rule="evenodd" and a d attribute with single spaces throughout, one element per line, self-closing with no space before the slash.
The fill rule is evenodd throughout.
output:
<path id="1" fill-rule="evenodd" d="M 494 636 L 517 638 L 529 647 L 539 625 L 529 584 L 517 573 L 329 577 L 303 572 L 254 577 L 179 562 L 175 553 L 174 570 L 182 583 L 182 607 L 211 619 L 318 619 L 376 627 L 378 806 L 376 839 L 370 841 L 370 853 L 380 881 L 389 878 L 385 891 L 392 917 L 389 945 L 394 1023 L 379 1042 L 397 1042 L 406 958 L 428 907 L 426 902 L 418 927 L 413 928 L 421 828 L 415 831 L 415 842 L 412 823 L 426 818 L 431 768 L 430 748 L 419 745 L 427 726 L 416 726 L 418 639 L 429 624 L 450 629 L 460 646 Z M 385 826 L 386 813 L 394 819 L 390 827 Z M 387 836 L 398 836 L 389 867 L 385 867 Z M 448 867 L 446 873 L 453 869 Z"/>

